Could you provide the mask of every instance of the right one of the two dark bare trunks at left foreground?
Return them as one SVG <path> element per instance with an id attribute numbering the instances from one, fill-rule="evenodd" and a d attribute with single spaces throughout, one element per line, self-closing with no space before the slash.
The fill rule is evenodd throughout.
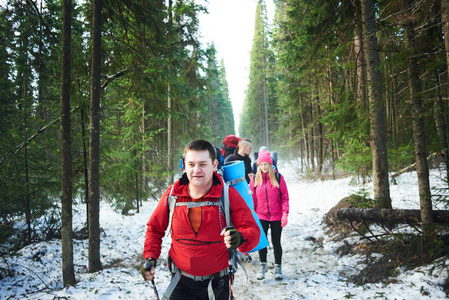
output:
<path id="1" fill-rule="evenodd" d="M 103 269 L 100 260 L 100 96 L 102 0 L 93 0 L 89 143 L 89 272 Z"/>

